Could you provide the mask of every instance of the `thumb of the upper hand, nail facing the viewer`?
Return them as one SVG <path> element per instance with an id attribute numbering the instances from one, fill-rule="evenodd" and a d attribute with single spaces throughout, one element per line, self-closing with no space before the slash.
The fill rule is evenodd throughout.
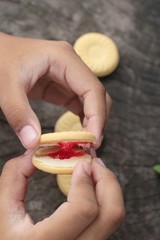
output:
<path id="1" fill-rule="evenodd" d="M 26 149 L 33 148 L 39 141 L 40 124 L 29 104 L 24 88 L 13 81 L 3 84 L 0 106 L 23 146 Z"/>

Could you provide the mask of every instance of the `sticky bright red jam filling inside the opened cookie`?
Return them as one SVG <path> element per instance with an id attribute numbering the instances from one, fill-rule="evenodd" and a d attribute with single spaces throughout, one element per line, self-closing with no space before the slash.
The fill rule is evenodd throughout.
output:
<path id="1" fill-rule="evenodd" d="M 86 149 L 88 142 L 59 142 L 57 143 L 57 146 L 59 146 L 60 149 L 56 152 L 49 153 L 48 156 L 62 160 L 69 159 L 71 157 L 83 156 L 87 153 Z"/>

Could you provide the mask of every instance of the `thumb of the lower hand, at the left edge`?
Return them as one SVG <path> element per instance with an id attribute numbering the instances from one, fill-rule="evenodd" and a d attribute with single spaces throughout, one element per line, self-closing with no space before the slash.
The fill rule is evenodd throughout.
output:
<path id="1" fill-rule="evenodd" d="M 0 212 L 3 212 L 3 217 L 6 218 L 7 222 L 13 221 L 16 216 L 24 217 L 23 203 L 28 178 L 34 172 L 31 153 L 9 160 L 4 165 L 0 177 Z"/>

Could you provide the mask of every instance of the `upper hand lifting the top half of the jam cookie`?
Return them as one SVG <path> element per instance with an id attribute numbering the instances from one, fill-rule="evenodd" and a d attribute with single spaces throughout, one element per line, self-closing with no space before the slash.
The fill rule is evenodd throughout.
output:
<path id="1" fill-rule="evenodd" d="M 111 98 L 71 45 L 0 33 L 0 54 L 0 107 L 25 148 L 41 134 L 28 95 L 84 114 L 84 128 L 100 145 Z"/>

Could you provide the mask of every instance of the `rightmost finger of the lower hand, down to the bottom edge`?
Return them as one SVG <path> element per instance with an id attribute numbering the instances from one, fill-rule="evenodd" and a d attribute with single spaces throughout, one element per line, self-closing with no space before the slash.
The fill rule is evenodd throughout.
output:
<path id="1" fill-rule="evenodd" d="M 93 161 L 92 176 L 100 209 L 99 215 L 77 240 L 108 239 L 125 215 L 122 191 L 117 178 L 99 159 Z"/>

